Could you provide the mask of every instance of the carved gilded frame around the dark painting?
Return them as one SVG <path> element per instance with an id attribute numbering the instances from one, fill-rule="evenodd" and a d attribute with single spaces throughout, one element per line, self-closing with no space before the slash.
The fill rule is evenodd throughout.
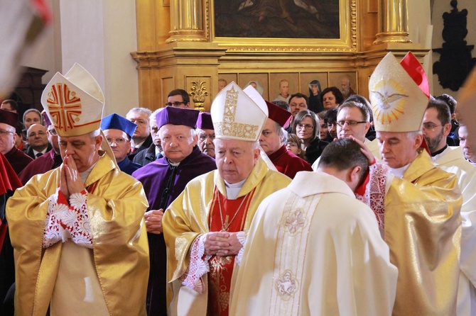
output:
<path id="1" fill-rule="evenodd" d="M 205 36 L 228 52 L 356 52 L 357 0 L 339 0 L 340 38 L 215 37 L 214 1 L 205 0 Z"/>

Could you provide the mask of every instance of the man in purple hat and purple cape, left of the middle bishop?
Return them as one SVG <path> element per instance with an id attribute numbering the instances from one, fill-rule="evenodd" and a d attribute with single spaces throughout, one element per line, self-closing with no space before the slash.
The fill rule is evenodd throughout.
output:
<path id="1" fill-rule="evenodd" d="M 135 171 L 146 191 L 148 209 L 144 215 L 151 252 L 148 315 L 166 315 L 167 251 L 162 217 L 168 205 L 192 179 L 216 169 L 215 159 L 198 149 L 195 126 L 197 110 L 167 106 L 156 115 L 164 157 Z M 164 226 L 165 227 L 165 226 Z"/>

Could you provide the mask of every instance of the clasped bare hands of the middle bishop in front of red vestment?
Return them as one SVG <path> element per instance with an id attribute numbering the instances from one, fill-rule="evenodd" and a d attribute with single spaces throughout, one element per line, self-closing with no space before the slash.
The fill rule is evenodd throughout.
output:
<path id="1" fill-rule="evenodd" d="M 203 239 L 207 256 L 231 256 L 238 254 L 243 245 L 237 232 L 207 232 Z"/>

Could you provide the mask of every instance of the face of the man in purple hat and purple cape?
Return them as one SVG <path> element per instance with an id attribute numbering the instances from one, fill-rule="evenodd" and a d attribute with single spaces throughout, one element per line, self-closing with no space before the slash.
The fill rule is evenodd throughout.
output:
<path id="1" fill-rule="evenodd" d="M 158 130 L 165 156 L 173 163 L 181 162 L 193 152 L 198 137 L 193 135 L 193 129 L 185 125 L 163 125 Z"/>

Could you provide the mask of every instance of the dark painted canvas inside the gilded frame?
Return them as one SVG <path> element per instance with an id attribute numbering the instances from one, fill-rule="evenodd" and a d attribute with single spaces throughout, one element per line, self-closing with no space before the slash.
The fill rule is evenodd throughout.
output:
<path id="1" fill-rule="evenodd" d="M 339 38 L 339 0 L 215 0 L 215 36 Z"/>

